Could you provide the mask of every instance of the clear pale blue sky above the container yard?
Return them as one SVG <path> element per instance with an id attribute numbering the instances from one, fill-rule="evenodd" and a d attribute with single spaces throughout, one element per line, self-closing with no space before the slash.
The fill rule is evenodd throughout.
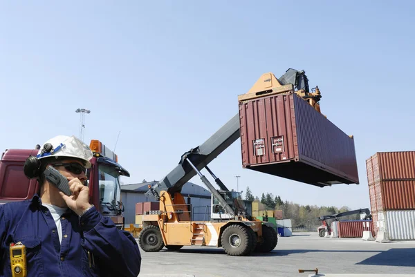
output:
<path id="1" fill-rule="evenodd" d="M 78 135 L 159 180 L 238 111 L 266 72 L 306 70 L 322 113 L 354 135 L 360 184 L 320 189 L 211 164 L 228 187 L 299 204 L 369 207 L 365 160 L 415 150 L 413 1 L 8 1 L 0 4 L 0 150 Z M 1 151 L 3 151 L 1 150 Z M 212 179 L 211 179 L 212 180 Z M 201 184 L 199 178 L 192 182 Z"/>

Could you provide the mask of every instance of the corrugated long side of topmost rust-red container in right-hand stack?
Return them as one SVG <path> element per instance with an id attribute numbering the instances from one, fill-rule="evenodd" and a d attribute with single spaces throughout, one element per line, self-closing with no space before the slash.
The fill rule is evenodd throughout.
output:
<path id="1" fill-rule="evenodd" d="M 415 151 L 379 152 L 380 180 L 415 180 Z"/>

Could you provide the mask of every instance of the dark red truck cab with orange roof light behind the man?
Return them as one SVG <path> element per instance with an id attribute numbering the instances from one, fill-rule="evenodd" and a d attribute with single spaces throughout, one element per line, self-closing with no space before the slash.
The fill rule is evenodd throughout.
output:
<path id="1" fill-rule="evenodd" d="M 86 171 L 89 187 L 89 202 L 109 216 L 118 229 L 124 229 L 124 206 L 121 202 L 120 176 L 129 177 L 129 172 L 118 164 L 118 156 L 99 140 L 91 140 L 93 151 L 91 169 Z M 39 193 L 36 179 L 24 175 L 24 162 L 37 149 L 6 149 L 0 160 L 0 204 L 29 200 Z"/>

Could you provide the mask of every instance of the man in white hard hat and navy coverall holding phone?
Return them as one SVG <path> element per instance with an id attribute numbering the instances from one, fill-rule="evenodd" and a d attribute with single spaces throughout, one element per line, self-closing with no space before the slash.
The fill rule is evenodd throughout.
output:
<path id="1" fill-rule="evenodd" d="M 28 277 L 138 276 L 136 240 L 89 203 L 84 184 L 91 157 L 91 149 L 77 137 L 57 136 L 45 142 L 36 159 L 26 160 L 25 173 L 38 172 L 40 191 L 30 200 L 0 205 L 0 276 L 23 276 L 25 265 L 12 273 L 10 262 L 10 249 L 19 244 L 26 254 L 16 262 L 26 260 Z M 49 165 L 68 180 L 71 196 L 46 180 Z"/>

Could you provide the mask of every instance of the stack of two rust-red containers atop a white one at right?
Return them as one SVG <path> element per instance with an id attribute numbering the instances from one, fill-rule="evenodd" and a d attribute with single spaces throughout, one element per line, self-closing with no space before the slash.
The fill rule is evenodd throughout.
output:
<path id="1" fill-rule="evenodd" d="M 374 233 L 415 240 L 415 151 L 378 152 L 366 168 Z"/>

